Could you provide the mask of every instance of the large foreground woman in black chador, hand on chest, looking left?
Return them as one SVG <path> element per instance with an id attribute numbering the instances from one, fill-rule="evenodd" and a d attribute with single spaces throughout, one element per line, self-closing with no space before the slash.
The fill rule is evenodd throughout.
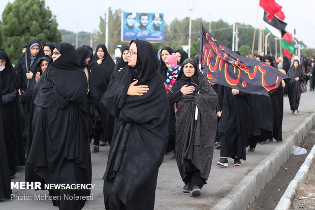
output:
<path id="1" fill-rule="evenodd" d="M 102 98 L 115 117 L 104 201 L 106 209 L 150 210 L 168 140 L 169 104 L 151 44 L 132 41 L 128 56 Z"/>

